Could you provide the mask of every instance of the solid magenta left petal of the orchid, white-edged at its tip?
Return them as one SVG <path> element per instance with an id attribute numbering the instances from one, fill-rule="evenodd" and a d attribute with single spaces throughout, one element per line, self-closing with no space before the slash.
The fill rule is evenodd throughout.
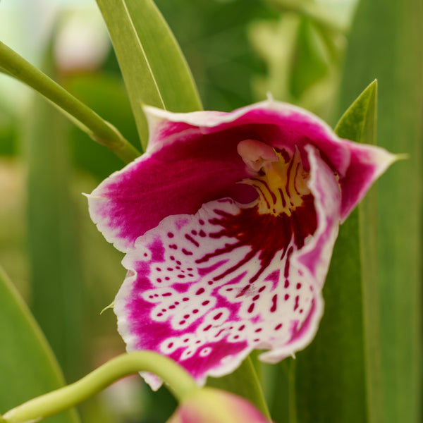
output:
<path id="1" fill-rule="evenodd" d="M 236 149 L 247 132 L 178 133 L 177 140 L 149 150 L 88 196 L 92 220 L 125 252 L 170 214 L 194 214 L 204 202 L 221 197 L 251 202 L 255 190 L 238 184 L 248 175 Z"/>

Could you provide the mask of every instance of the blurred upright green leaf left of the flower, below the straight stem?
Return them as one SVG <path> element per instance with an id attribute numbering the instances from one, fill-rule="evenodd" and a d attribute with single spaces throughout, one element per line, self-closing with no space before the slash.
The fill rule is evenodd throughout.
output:
<path id="1" fill-rule="evenodd" d="M 63 372 L 85 373 L 83 286 L 75 204 L 71 200 L 70 124 L 34 97 L 27 118 L 27 220 L 31 308 Z"/>

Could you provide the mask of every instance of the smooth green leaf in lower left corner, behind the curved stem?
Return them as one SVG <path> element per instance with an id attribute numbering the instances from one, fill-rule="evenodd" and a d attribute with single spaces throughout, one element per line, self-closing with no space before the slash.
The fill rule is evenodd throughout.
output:
<path id="1" fill-rule="evenodd" d="M 63 386 L 63 376 L 42 331 L 0 267 L 0 412 Z M 74 410 L 51 423 L 78 423 Z"/>

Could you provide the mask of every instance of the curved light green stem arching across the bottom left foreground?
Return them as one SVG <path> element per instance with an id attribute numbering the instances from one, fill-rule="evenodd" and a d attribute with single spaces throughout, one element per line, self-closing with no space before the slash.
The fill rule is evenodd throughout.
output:
<path id="1" fill-rule="evenodd" d="M 119 355 L 75 383 L 18 405 L 0 417 L 1 423 L 38 422 L 73 407 L 109 386 L 117 379 L 136 372 L 151 372 L 166 381 L 178 401 L 198 389 L 185 369 L 167 357 L 139 351 Z"/>

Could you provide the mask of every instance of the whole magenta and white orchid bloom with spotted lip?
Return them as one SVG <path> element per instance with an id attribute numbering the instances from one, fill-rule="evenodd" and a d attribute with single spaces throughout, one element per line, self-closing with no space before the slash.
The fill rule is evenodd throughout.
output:
<path id="1" fill-rule="evenodd" d="M 396 157 L 271 99 L 145 113 L 147 152 L 88 196 L 126 253 L 114 311 L 128 351 L 168 355 L 204 384 L 252 350 L 273 363 L 305 348 L 338 226 Z"/>

